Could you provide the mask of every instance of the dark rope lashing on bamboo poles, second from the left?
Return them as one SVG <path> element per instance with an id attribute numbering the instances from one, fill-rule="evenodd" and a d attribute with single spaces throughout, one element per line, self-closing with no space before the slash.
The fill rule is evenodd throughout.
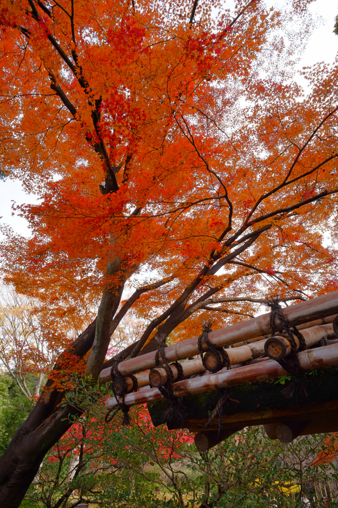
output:
<path id="1" fill-rule="evenodd" d="M 155 368 L 156 367 L 162 367 L 166 372 L 166 381 L 162 386 L 157 387 L 157 389 L 160 391 L 161 395 L 165 397 L 167 400 L 171 402 L 168 409 L 165 411 L 165 414 L 163 415 L 163 422 L 166 420 L 174 421 L 175 419 L 180 423 L 181 425 L 184 424 L 184 419 L 186 417 L 185 411 L 182 407 L 182 401 L 181 399 L 178 399 L 174 396 L 174 389 L 173 389 L 173 383 L 174 383 L 174 374 L 172 369 L 170 368 L 170 364 L 165 356 L 165 337 L 158 340 L 158 347 L 155 355 Z M 162 359 L 163 363 L 160 363 L 160 358 Z M 177 381 L 181 381 L 184 378 L 183 374 L 183 368 L 179 364 L 179 362 L 175 362 L 173 365 L 177 368 L 178 372 L 178 378 Z"/>

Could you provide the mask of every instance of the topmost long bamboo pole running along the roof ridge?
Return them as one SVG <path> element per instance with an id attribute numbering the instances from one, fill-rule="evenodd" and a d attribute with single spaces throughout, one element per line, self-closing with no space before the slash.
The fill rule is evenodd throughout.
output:
<path id="1" fill-rule="evenodd" d="M 290 305 L 283 309 L 290 326 L 298 326 L 308 323 L 310 318 L 321 319 L 322 317 L 338 313 L 338 291 L 334 291 L 327 295 L 322 295 L 306 302 Z M 252 319 L 237 323 L 235 325 L 215 330 L 208 334 L 209 340 L 216 346 L 226 346 L 242 340 L 248 340 L 261 335 L 269 335 L 270 333 L 270 312 L 253 317 Z M 275 330 L 281 331 L 282 325 L 279 320 L 275 319 Z M 205 350 L 207 346 L 205 346 Z M 165 355 L 168 362 L 175 362 L 185 358 L 193 357 L 198 354 L 197 337 L 178 342 L 172 346 L 166 347 Z M 129 376 L 136 372 L 151 369 L 155 366 L 156 352 L 152 351 L 136 358 L 130 358 L 121 362 L 118 366 L 119 372 L 123 376 Z M 106 377 L 107 372 L 104 369 L 101 377 Z"/>

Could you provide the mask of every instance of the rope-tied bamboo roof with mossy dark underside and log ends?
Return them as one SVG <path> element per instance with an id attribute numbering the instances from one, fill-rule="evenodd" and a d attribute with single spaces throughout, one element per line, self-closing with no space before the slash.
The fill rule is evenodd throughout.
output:
<path id="1" fill-rule="evenodd" d="M 203 362 L 196 355 L 196 337 L 166 347 L 165 358 L 158 356 L 157 366 L 156 352 L 121 362 L 114 382 L 115 396 L 107 399 L 106 406 L 113 410 L 122 407 L 122 402 L 123 407 L 147 403 L 155 426 L 166 423 L 169 429 L 185 427 L 196 432 L 195 442 L 201 451 L 248 425 L 263 424 L 269 437 L 278 437 L 284 442 L 297 435 L 338 431 L 338 370 L 335 367 L 338 365 L 338 339 L 336 327 L 332 325 L 338 321 L 335 319 L 337 313 L 338 292 L 283 309 L 290 326 L 298 326 L 301 330 L 305 351 L 295 351 L 300 339 L 294 336 L 292 345 L 292 335 L 288 339 L 278 319 L 275 319 L 275 336 L 267 339 L 270 313 L 266 313 L 210 332 L 206 343 L 199 341 L 207 351 Z M 226 367 L 216 373 L 206 370 L 206 366 L 212 370 L 215 357 L 208 348 L 208 341 L 213 348 L 225 346 L 230 370 Z M 285 396 L 285 389 L 295 384 L 297 378 L 294 373 L 290 376 L 290 371 L 286 370 L 288 363 L 281 360 L 287 359 L 289 354 L 289 361 L 292 355 L 295 358 L 302 393 L 306 396 L 299 397 L 296 393 L 291 398 Z M 180 362 L 183 380 L 178 378 L 177 364 L 162 366 L 166 359 L 172 362 L 191 356 L 193 360 Z M 149 372 L 149 369 L 152 370 Z M 109 379 L 107 370 L 110 376 L 110 369 L 101 373 L 104 382 Z M 134 374 L 136 378 L 130 381 Z M 119 397 L 118 389 L 123 385 L 123 390 L 132 390 L 136 379 L 138 391 Z M 149 386 L 149 379 L 153 387 Z M 161 389 L 168 384 L 170 397 Z M 220 412 L 216 415 L 215 410 L 222 396 L 224 398 L 224 390 L 226 403 L 221 404 L 220 426 Z M 181 402 L 176 404 L 176 400 Z M 180 407 L 180 418 L 175 416 L 177 412 L 169 410 L 175 404 Z M 213 412 L 214 418 L 210 421 Z"/>

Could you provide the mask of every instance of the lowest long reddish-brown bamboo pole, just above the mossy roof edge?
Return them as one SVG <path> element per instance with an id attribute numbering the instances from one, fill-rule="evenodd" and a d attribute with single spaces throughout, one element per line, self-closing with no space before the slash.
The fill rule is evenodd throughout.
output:
<path id="1" fill-rule="evenodd" d="M 302 351 L 297 354 L 301 370 L 314 370 L 322 367 L 329 367 L 338 364 L 338 343 L 318 347 L 313 350 Z M 231 386 L 238 386 L 246 383 L 255 383 L 265 379 L 281 377 L 288 372 L 275 360 L 246 365 L 236 369 L 222 369 L 216 374 L 203 375 L 191 379 L 185 379 L 173 385 L 175 397 L 184 397 L 195 393 L 210 392 Z M 129 393 L 124 398 L 127 406 L 145 404 L 162 400 L 163 396 L 157 388 L 142 390 L 137 393 Z M 106 400 L 107 409 L 117 405 L 115 397 Z"/>

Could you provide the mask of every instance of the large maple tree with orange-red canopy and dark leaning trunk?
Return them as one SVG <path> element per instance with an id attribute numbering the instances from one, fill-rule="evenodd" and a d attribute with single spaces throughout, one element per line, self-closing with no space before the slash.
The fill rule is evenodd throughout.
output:
<path id="1" fill-rule="evenodd" d="M 4 228 L 3 270 L 47 323 L 88 325 L 54 374 L 97 378 L 130 313 L 124 357 L 336 289 L 337 67 L 292 80 L 307 6 L 2 0 L 2 166 L 41 198 L 20 207 L 31 238 Z M 81 413 L 56 378 L 0 461 L 4 506 Z"/>

